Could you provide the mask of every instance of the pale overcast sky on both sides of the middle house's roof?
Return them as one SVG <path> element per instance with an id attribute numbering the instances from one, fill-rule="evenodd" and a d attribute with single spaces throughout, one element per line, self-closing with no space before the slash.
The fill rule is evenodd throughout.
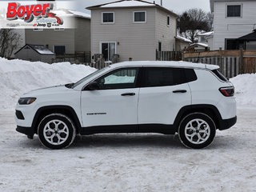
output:
<path id="1" fill-rule="evenodd" d="M 95 6 L 106 2 L 115 2 L 117 0 L 75 0 L 74 9 L 85 11 L 84 8 L 87 6 Z M 146 1 L 146 0 L 145 0 Z M 153 2 L 153 0 L 147 0 Z M 160 4 L 161 0 L 155 0 L 156 3 Z M 174 13 L 182 14 L 184 10 L 190 8 L 201 8 L 202 10 L 210 11 L 210 0 L 162 0 L 163 6 L 168 10 L 173 10 Z M 90 13 L 86 10 L 86 13 Z"/>

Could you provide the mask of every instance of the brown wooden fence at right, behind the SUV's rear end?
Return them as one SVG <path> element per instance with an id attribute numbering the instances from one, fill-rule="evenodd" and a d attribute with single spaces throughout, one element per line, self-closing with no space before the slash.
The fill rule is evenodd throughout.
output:
<path id="1" fill-rule="evenodd" d="M 184 61 L 218 65 L 227 78 L 256 73 L 256 50 L 214 50 L 184 53 Z"/>

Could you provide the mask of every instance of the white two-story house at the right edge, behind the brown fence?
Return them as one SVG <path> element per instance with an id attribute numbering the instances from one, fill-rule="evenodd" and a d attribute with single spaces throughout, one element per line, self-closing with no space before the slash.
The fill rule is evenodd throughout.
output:
<path id="1" fill-rule="evenodd" d="M 214 50 L 256 50 L 255 38 L 242 38 L 255 30 L 255 0 L 210 0 L 214 13 Z"/>

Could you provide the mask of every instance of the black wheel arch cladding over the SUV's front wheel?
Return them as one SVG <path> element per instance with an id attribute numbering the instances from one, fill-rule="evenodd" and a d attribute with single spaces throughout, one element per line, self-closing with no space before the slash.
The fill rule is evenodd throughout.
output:
<path id="1" fill-rule="evenodd" d="M 78 119 L 78 114 L 74 111 L 71 106 L 42 106 L 39 108 L 34 115 L 32 129 L 34 130 L 34 134 L 38 134 L 38 125 L 41 122 L 42 118 L 44 118 L 48 114 L 60 113 L 65 114 L 74 122 L 74 126 L 76 128 L 77 133 L 80 133 L 81 123 Z"/>

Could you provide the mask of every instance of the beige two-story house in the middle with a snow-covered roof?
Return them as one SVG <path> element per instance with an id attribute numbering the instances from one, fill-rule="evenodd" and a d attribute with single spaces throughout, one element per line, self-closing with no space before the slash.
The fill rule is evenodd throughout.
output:
<path id="1" fill-rule="evenodd" d="M 91 52 L 111 61 L 156 60 L 156 50 L 175 50 L 177 14 L 140 0 L 123 0 L 91 10 Z"/>

